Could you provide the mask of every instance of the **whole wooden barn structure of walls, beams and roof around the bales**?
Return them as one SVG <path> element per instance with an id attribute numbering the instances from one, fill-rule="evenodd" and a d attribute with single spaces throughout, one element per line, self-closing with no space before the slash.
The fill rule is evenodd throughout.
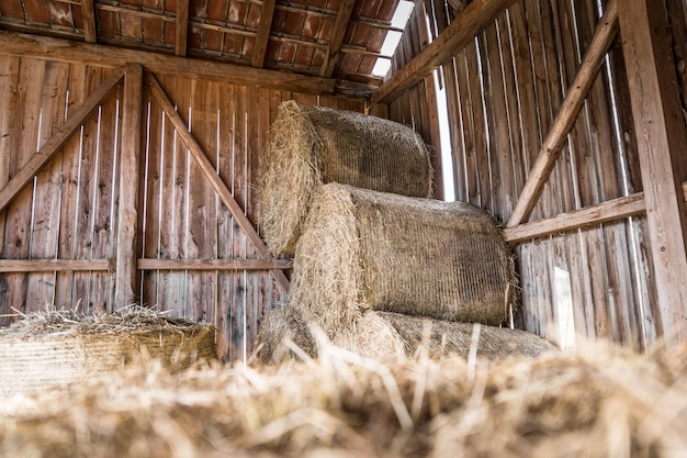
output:
<path id="1" fill-rule="evenodd" d="M 684 342 L 683 0 L 5 0 L 0 325 L 132 303 L 246 359 L 289 302 L 260 238 L 282 102 L 412 126 L 503 225 L 514 327 Z"/>

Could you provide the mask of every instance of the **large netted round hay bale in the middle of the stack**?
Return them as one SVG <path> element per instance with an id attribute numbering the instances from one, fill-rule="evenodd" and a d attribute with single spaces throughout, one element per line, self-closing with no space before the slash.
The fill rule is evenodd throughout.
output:
<path id="1" fill-rule="evenodd" d="M 329 183 L 299 241 L 291 298 L 333 338 L 367 309 L 499 325 L 515 284 L 483 210 Z"/>

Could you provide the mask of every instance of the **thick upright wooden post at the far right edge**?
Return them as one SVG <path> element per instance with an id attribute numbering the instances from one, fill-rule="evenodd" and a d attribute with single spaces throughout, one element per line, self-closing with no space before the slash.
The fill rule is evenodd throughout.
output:
<path id="1" fill-rule="evenodd" d="M 665 5 L 622 0 L 618 5 L 622 49 L 646 201 L 663 334 L 687 336 L 687 214 L 682 181 L 687 129 L 672 60 Z"/>

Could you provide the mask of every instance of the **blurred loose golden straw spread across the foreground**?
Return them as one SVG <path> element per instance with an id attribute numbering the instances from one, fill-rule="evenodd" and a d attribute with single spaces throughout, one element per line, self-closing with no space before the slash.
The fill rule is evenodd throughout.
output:
<path id="1" fill-rule="evenodd" d="M 0 402 L 12 457 L 652 457 L 687 454 L 687 346 L 471 365 L 133 365 Z"/>

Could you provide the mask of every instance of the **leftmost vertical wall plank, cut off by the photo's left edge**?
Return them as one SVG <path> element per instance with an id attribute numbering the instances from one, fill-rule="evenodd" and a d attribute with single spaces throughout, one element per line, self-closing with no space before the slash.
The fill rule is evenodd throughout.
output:
<path id="1" fill-rule="evenodd" d="M 20 58 L 0 55 L 0 189 L 10 180 L 10 152 L 14 144 L 16 94 L 20 83 Z M 7 211 L 0 212 L 0 250 L 4 247 Z M 7 276 L 0 275 L 0 326 L 9 324 Z"/>

